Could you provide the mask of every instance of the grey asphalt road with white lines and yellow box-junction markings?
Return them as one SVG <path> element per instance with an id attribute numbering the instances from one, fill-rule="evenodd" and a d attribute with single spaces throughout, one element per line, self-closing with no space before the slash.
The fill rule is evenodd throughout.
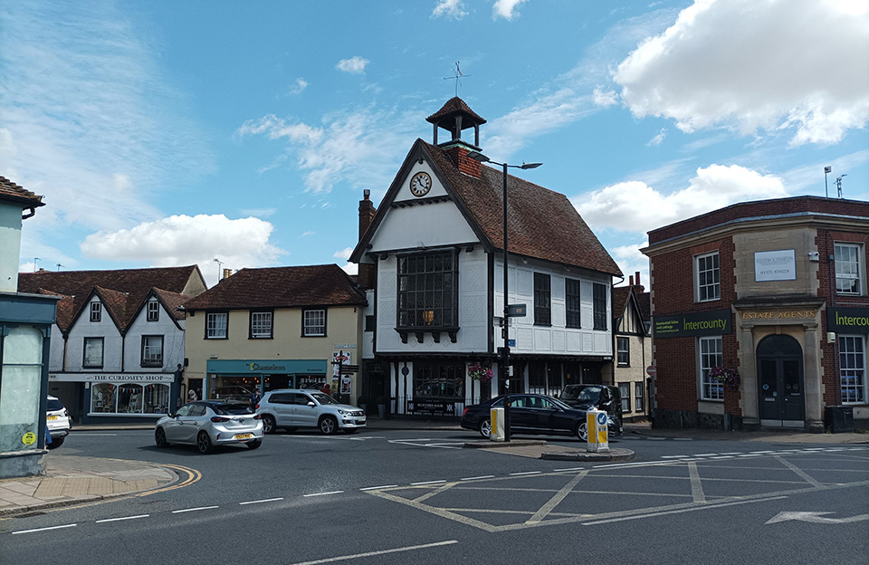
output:
<path id="1" fill-rule="evenodd" d="M 869 555 L 869 446 L 653 441 L 627 464 L 463 449 L 462 431 L 60 449 L 184 465 L 184 488 L 0 521 L 0 563 L 818 563 Z M 557 437 L 550 443 L 576 446 Z M 52 529 L 46 529 L 52 528 Z"/>

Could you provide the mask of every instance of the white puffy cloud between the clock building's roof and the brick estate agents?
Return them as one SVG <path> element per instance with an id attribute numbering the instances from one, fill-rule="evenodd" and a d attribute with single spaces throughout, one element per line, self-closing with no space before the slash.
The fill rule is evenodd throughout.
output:
<path id="1" fill-rule="evenodd" d="M 736 202 L 784 196 L 788 191 L 780 177 L 739 165 L 711 165 L 698 168 L 687 188 L 670 195 L 631 180 L 571 198 L 571 202 L 592 230 L 645 234 Z"/>

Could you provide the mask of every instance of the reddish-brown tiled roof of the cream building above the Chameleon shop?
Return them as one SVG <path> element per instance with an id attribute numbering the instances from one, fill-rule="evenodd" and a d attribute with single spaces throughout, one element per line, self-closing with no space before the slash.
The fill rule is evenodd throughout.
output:
<path id="1" fill-rule="evenodd" d="M 187 311 L 214 308 L 361 306 L 365 295 L 336 264 L 242 269 L 186 302 Z"/>

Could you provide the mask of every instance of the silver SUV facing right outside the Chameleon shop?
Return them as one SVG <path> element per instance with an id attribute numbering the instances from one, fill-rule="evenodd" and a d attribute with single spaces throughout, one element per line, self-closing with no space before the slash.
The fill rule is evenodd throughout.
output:
<path id="1" fill-rule="evenodd" d="M 361 408 L 340 404 L 319 390 L 270 390 L 257 403 L 256 413 L 263 417 L 266 434 L 273 434 L 279 427 L 288 431 L 297 427 L 319 427 L 327 435 L 339 429 L 352 434 L 365 427 L 365 413 Z"/>

